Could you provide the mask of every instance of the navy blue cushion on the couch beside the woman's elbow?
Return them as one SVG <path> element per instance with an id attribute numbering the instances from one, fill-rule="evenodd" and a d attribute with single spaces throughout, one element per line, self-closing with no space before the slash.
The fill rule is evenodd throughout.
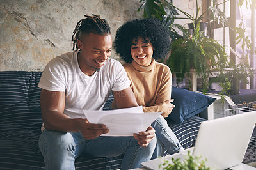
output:
<path id="1" fill-rule="evenodd" d="M 168 118 L 179 125 L 191 116 L 204 111 L 204 109 L 216 100 L 216 98 L 209 97 L 202 93 L 175 87 L 172 87 L 172 98 L 174 99 L 173 104 L 175 107 Z"/>

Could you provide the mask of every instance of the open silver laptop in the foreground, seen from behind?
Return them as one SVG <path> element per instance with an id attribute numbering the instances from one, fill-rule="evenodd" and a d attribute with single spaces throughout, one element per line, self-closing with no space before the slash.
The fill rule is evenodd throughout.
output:
<path id="1" fill-rule="evenodd" d="M 256 111 L 204 121 L 200 125 L 195 147 L 188 150 L 193 155 L 207 158 L 207 167 L 227 169 L 237 166 L 243 161 L 255 123 Z M 172 162 L 172 157 L 184 160 L 188 150 L 168 155 L 164 159 L 169 162 Z M 163 158 L 157 158 L 141 165 L 156 170 L 162 163 Z"/>

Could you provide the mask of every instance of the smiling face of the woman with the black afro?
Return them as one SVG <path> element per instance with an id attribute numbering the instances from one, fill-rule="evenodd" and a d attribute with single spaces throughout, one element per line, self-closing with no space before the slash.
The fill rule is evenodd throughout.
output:
<path id="1" fill-rule="evenodd" d="M 152 61 L 154 48 L 150 40 L 143 39 L 140 36 L 138 40 L 132 40 L 131 55 L 134 61 L 140 66 L 148 66 Z"/>

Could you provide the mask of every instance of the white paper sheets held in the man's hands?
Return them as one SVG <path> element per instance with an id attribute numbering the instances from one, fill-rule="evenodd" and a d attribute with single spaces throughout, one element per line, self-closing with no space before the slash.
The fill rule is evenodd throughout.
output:
<path id="1" fill-rule="evenodd" d="M 142 106 L 109 111 L 84 111 L 90 123 L 104 124 L 109 129 L 102 136 L 132 136 L 147 130 L 161 112 L 144 113 Z"/>

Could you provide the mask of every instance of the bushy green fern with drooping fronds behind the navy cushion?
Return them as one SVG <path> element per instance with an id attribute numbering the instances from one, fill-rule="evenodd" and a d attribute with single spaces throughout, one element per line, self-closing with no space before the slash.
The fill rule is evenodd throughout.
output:
<path id="1" fill-rule="evenodd" d="M 209 74 L 212 68 L 223 69 L 227 66 L 228 54 L 225 47 L 213 38 L 205 37 L 200 32 L 199 24 L 196 25 L 195 32 L 189 35 L 188 31 L 179 24 L 174 24 L 183 32 L 183 38 L 176 39 L 171 46 L 171 54 L 167 65 L 175 73 L 179 83 L 190 69 L 195 69 L 202 77 L 204 91 L 209 86 Z"/>

